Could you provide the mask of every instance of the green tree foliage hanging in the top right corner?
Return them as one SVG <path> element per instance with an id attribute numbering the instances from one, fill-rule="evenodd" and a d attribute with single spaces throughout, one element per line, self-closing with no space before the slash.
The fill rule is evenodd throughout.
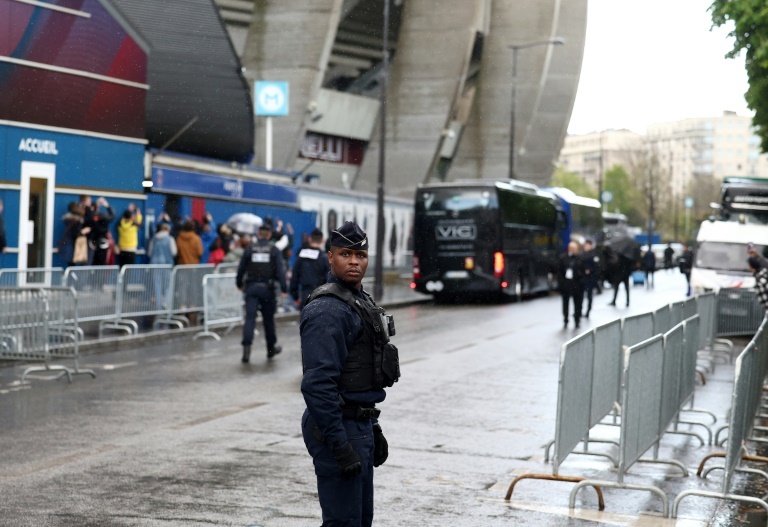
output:
<path id="1" fill-rule="evenodd" d="M 744 94 L 754 110 L 753 124 L 760 136 L 763 152 L 768 152 L 768 3 L 765 0 L 714 0 L 709 7 L 713 26 L 735 24 L 735 41 L 726 55 L 734 58 L 746 51 L 749 89 Z"/>

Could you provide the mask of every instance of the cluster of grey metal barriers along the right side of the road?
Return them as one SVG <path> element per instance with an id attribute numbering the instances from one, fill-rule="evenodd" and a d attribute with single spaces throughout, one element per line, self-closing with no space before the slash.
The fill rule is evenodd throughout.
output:
<path id="1" fill-rule="evenodd" d="M 741 315 L 733 318 L 738 320 L 730 320 L 728 317 L 737 311 Z M 736 361 L 729 424 L 713 434 L 707 424 L 685 420 L 683 415 L 695 412 L 708 415 L 712 424 L 716 422 L 711 412 L 694 408 L 694 391 L 697 376 L 705 382 L 706 373 L 718 361 L 731 361 L 733 343 L 718 338 L 723 334 L 755 337 Z M 768 511 L 763 499 L 731 492 L 737 471 L 759 472 L 768 479 L 768 473 L 740 466 L 744 461 L 768 462 L 743 455 L 744 441 L 755 430 L 768 431 L 753 426 L 761 408 L 767 357 L 768 328 L 762 306 L 751 291 L 721 290 L 717 295 L 699 295 L 651 313 L 615 320 L 566 342 L 560 356 L 555 438 L 545 447 L 546 461 L 553 450 L 552 474 L 518 476 L 510 484 L 506 500 L 524 479 L 566 481 L 576 483 L 569 497 L 570 508 L 575 508 L 577 494 L 586 486 L 594 487 L 600 510 L 605 506 L 604 487 L 646 490 L 661 499 L 662 514 L 668 517 L 670 506 L 665 492 L 654 485 L 628 483 L 625 476 L 629 468 L 637 462 L 665 463 L 688 476 L 687 468 L 678 460 L 659 457 L 662 436 L 685 434 L 696 437 L 703 446 L 712 444 L 713 438 L 717 442 L 727 429 L 726 453 L 707 456 L 699 467 L 701 474 L 708 459 L 726 458 L 724 467 L 713 467 L 705 473 L 724 468 L 722 491 L 684 491 L 674 500 L 671 514 L 677 517 L 680 502 L 690 495 L 751 502 Z M 618 426 L 618 440 L 595 437 L 598 425 Z M 681 430 L 680 425 L 689 427 Z M 618 456 L 601 449 L 597 446 L 600 444 L 612 444 Z M 649 451 L 651 457 L 644 458 Z M 572 454 L 607 458 L 616 468 L 616 480 L 560 474 L 563 461 Z"/>

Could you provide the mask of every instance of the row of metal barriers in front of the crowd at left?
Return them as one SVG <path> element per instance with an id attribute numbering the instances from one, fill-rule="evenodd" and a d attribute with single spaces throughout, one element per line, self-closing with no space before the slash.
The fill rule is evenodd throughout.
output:
<path id="1" fill-rule="evenodd" d="M 78 365 L 80 343 L 89 323 L 135 334 L 137 320 L 154 317 L 152 328 L 182 328 L 189 316 L 202 318 L 199 337 L 219 339 L 219 326 L 242 323 L 243 297 L 235 287 L 237 264 L 126 265 L 64 269 L 0 270 L 0 360 L 42 363 L 22 373 L 51 370 L 87 373 Z M 53 365 L 73 359 L 74 368 Z"/>

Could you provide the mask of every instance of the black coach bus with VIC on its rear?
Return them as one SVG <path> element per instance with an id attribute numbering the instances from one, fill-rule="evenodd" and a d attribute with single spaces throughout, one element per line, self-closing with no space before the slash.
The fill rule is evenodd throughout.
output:
<path id="1" fill-rule="evenodd" d="M 561 218 L 554 194 L 521 181 L 420 185 L 412 287 L 436 299 L 547 293 Z"/>

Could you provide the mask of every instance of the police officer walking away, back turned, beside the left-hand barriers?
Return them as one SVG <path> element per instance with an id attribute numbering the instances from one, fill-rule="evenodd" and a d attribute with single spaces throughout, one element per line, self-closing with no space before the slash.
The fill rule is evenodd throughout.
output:
<path id="1" fill-rule="evenodd" d="M 251 343 L 256 326 L 256 312 L 261 311 L 264 319 L 264 333 L 267 339 L 267 358 L 271 359 L 282 351 L 277 345 L 275 334 L 275 289 L 285 297 L 285 267 L 280 250 L 269 243 L 272 225 L 264 222 L 259 226 L 256 243 L 243 252 L 237 268 L 237 288 L 245 292 L 245 324 L 243 325 L 243 362 L 251 359 Z"/>

